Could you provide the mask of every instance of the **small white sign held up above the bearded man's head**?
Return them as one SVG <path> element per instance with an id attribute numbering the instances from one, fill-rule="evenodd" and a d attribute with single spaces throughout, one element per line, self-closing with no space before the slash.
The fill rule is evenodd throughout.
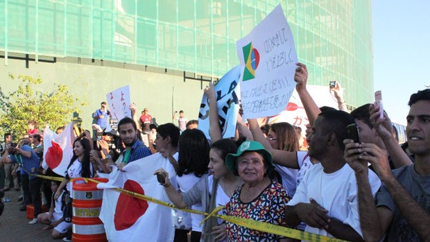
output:
<path id="1" fill-rule="evenodd" d="M 130 86 L 120 87 L 106 94 L 107 105 L 112 115 L 112 119 L 120 121 L 124 117 L 131 117 L 130 111 Z M 110 127 L 110 126 L 109 126 Z"/>

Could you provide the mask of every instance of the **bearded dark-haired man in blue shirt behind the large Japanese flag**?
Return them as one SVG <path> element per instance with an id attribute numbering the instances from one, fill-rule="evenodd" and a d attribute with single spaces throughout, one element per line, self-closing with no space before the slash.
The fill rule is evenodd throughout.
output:
<path id="1" fill-rule="evenodd" d="M 140 133 L 137 130 L 135 121 L 133 121 L 129 117 L 121 119 L 121 121 L 119 121 L 118 123 L 118 132 L 119 137 L 123 141 L 123 144 L 126 146 L 126 149 L 123 151 L 122 154 L 121 163 L 118 165 L 118 168 L 120 170 L 122 170 L 122 168 L 130 162 L 134 162 L 137 159 L 152 155 L 152 153 L 150 153 L 150 150 L 138 138 L 138 135 L 140 135 Z M 106 159 L 110 159 L 112 161 L 112 157 L 110 155 L 107 155 Z"/>

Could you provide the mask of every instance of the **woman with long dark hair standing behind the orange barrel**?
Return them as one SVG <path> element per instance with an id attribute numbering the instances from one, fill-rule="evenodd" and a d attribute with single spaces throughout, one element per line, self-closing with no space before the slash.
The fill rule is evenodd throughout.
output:
<path id="1" fill-rule="evenodd" d="M 90 142 L 86 137 L 78 137 L 73 144 L 74 155 L 71 157 L 65 178 L 62 180 L 57 192 L 55 192 L 55 200 L 61 195 L 64 187 L 70 192 L 70 197 L 73 198 L 72 184 L 70 178 L 92 178 L 94 176 L 92 163 L 89 161 L 89 152 L 91 151 Z"/>

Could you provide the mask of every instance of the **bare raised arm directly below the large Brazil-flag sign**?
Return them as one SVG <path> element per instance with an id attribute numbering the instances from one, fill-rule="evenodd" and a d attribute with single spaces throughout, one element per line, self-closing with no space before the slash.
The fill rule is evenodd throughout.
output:
<path id="1" fill-rule="evenodd" d="M 289 168 L 300 168 L 297 161 L 297 153 L 285 150 L 275 150 L 270 146 L 270 143 L 263 135 L 263 131 L 261 131 L 261 128 L 258 126 L 257 119 L 248 119 L 248 124 L 250 126 L 252 137 L 255 141 L 259 141 L 264 148 L 272 154 L 273 162 Z"/>

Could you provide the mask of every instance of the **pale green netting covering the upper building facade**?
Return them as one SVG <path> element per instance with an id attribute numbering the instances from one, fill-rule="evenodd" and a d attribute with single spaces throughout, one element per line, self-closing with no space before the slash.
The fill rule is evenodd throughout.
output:
<path id="1" fill-rule="evenodd" d="M 352 106 L 372 100 L 371 1 L 3 0 L 0 51 L 110 60 L 221 77 L 236 40 L 281 3 L 309 84 L 341 81 Z"/>

